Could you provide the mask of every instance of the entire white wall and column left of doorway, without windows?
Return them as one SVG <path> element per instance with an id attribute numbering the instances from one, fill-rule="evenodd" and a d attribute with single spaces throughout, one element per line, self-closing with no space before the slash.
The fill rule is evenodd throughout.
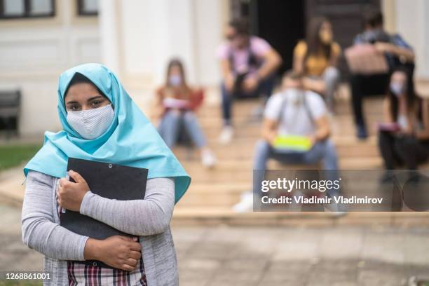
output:
<path id="1" fill-rule="evenodd" d="M 56 1 L 54 18 L 0 20 L 0 89 L 22 90 L 22 135 L 59 130 L 57 79 L 84 62 L 104 62 L 137 101 L 180 57 L 189 82 L 216 86 L 214 51 L 228 0 L 103 0 L 97 17 L 76 15 L 75 0 Z"/>

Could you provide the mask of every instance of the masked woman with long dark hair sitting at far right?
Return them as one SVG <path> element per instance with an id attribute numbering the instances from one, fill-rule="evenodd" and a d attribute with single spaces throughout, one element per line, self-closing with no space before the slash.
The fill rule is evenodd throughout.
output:
<path id="1" fill-rule="evenodd" d="M 416 95 L 409 69 L 397 67 L 390 76 L 383 115 L 379 149 L 386 170 L 389 172 L 400 163 L 416 170 L 419 163 L 429 158 L 429 100 Z"/>

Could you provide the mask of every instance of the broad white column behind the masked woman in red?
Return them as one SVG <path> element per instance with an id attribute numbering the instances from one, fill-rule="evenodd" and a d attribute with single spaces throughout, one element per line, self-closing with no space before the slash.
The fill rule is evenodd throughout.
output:
<path id="1" fill-rule="evenodd" d="M 123 1 L 123 68 L 133 86 L 160 84 L 171 57 L 196 79 L 193 0 Z"/>

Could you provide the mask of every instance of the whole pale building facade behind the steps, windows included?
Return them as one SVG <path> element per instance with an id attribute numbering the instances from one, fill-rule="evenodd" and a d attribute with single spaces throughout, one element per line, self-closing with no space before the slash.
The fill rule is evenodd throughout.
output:
<path id="1" fill-rule="evenodd" d="M 11 4 L 20 1 L 22 6 Z M 237 6 L 253 7 L 250 15 L 259 15 L 260 27 L 268 21 L 263 18 L 264 7 L 252 5 L 255 2 L 258 0 L 0 0 L 0 90 L 22 91 L 20 133 L 40 135 L 44 130 L 60 129 L 57 79 L 76 64 L 106 64 L 143 109 L 152 90 L 164 80 L 171 57 L 184 61 L 190 83 L 215 87 L 220 81 L 215 50 L 223 41 L 225 23 L 239 13 Z M 305 22 L 308 15 L 332 11 L 332 6 L 325 7 L 330 2 L 341 1 L 298 2 L 296 7 L 301 10 L 296 13 Z M 336 15 L 359 1 L 343 2 Z M 379 5 L 386 29 L 399 32 L 414 46 L 416 78 L 429 80 L 429 50 L 425 48 L 429 46 L 429 1 L 366 2 Z M 292 29 L 303 30 L 302 22 L 295 21 L 297 27 Z"/>

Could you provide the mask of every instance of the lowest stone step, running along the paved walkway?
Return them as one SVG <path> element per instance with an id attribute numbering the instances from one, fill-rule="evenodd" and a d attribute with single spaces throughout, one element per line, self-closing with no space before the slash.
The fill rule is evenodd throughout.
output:
<path id="1" fill-rule="evenodd" d="M 172 224 L 208 226 L 327 227 L 327 226 L 396 226 L 401 228 L 429 226 L 425 212 L 250 212 L 235 213 L 222 207 L 176 207 Z"/>

